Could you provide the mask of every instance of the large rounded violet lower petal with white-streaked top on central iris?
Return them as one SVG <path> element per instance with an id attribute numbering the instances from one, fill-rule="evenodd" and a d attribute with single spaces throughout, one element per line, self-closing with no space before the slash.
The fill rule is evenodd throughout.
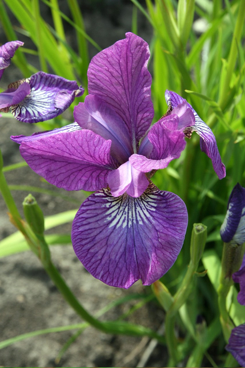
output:
<path id="1" fill-rule="evenodd" d="M 115 198 L 103 189 L 78 210 L 72 244 L 94 277 L 127 289 L 139 279 L 150 285 L 167 272 L 181 250 L 186 228 L 184 202 L 152 183 L 139 198 Z"/>

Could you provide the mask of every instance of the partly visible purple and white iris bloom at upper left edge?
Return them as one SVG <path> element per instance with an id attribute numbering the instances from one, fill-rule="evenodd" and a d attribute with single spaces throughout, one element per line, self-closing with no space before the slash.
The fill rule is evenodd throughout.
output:
<path id="1" fill-rule="evenodd" d="M 0 47 L 0 77 L 23 42 L 7 42 Z M 0 111 L 11 112 L 15 119 L 38 123 L 52 119 L 66 110 L 84 89 L 77 82 L 39 71 L 31 77 L 11 83 L 0 93 Z M 1 115 L 0 115 L 1 116 Z"/>

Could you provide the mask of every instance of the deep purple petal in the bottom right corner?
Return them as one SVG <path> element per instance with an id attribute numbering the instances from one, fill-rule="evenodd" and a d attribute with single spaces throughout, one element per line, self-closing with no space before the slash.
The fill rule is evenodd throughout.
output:
<path id="1" fill-rule="evenodd" d="M 231 353 L 241 367 L 245 367 L 245 323 L 235 327 L 231 331 L 231 336 L 226 350 Z"/>

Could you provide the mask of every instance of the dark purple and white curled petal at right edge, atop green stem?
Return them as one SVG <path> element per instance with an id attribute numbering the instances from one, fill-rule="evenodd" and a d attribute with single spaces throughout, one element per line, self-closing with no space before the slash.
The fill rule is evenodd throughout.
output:
<path id="1" fill-rule="evenodd" d="M 239 183 L 233 188 L 228 200 L 226 217 L 220 228 L 220 235 L 225 243 L 245 242 L 245 188 Z"/>

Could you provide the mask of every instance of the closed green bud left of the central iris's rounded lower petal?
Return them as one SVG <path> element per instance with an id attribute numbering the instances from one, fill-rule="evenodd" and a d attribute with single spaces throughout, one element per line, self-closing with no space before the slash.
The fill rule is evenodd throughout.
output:
<path id="1" fill-rule="evenodd" d="M 23 202 L 23 210 L 27 223 L 37 235 L 43 235 L 44 217 L 43 212 L 32 194 L 28 194 Z"/>

